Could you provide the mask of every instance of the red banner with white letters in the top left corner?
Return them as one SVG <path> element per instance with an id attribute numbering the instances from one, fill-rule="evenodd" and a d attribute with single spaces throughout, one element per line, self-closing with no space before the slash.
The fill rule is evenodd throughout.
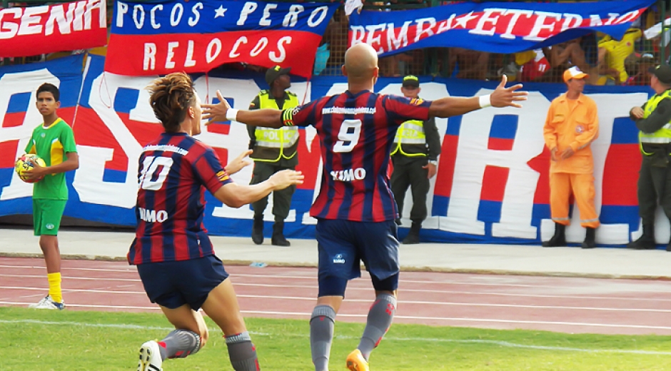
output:
<path id="1" fill-rule="evenodd" d="M 0 57 L 35 56 L 107 44 L 106 1 L 0 9 Z"/>

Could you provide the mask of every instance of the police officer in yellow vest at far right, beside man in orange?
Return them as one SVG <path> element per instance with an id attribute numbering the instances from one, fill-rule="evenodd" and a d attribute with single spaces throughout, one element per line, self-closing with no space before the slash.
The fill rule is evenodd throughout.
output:
<path id="1" fill-rule="evenodd" d="M 643 157 L 638 176 L 638 214 L 643 235 L 627 245 L 627 248 L 636 250 L 655 248 L 657 203 L 671 219 L 671 67 L 662 64 L 650 68 L 650 73 L 650 87 L 655 95 L 642 107 L 634 107 L 630 111 L 630 117 L 639 130 Z M 666 250 L 671 251 L 671 243 Z"/>

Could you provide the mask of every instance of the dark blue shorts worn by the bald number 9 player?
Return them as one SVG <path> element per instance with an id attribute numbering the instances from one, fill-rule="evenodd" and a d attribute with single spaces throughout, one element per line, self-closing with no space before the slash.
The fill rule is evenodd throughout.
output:
<path id="1" fill-rule="evenodd" d="M 355 222 L 351 220 L 319 219 L 316 228 L 319 250 L 320 296 L 340 295 L 338 290 L 322 288 L 333 278 L 352 280 L 361 276 L 361 262 L 373 278 L 373 284 L 395 278 L 385 287 L 375 290 L 393 291 L 398 288 L 398 238 L 396 223 Z M 341 289 L 344 294 L 344 287 Z"/>

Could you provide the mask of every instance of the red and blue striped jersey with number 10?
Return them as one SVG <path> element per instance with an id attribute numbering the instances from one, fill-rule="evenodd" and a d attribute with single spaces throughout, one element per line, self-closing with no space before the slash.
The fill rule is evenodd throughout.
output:
<path id="1" fill-rule="evenodd" d="M 128 263 L 213 255 L 203 225 L 205 189 L 231 179 L 212 148 L 186 133 L 162 133 L 145 146 L 138 167 L 137 228 Z"/>

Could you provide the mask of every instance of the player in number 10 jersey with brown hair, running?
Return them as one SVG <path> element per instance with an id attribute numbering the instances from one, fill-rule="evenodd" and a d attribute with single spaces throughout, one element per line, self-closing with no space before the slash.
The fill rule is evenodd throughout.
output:
<path id="1" fill-rule="evenodd" d="M 175 330 L 141 346 L 138 371 L 161 371 L 163 360 L 193 355 L 206 344 L 200 308 L 221 327 L 233 370 L 260 370 L 233 284 L 203 226 L 205 190 L 239 208 L 273 190 L 301 184 L 303 176 L 286 170 L 255 185 L 233 183 L 228 175 L 248 164 L 242 159 L 248 153 L 223 168 L 213 149 L 192 137 L 201 133 L 202 110 L 191 78 L 171 73 L 154 81 L 149 91 L 165 132 L 140 155 L 138 225 L 128 263 L 137 265 L 147 296 L 161 306 Z"/>

